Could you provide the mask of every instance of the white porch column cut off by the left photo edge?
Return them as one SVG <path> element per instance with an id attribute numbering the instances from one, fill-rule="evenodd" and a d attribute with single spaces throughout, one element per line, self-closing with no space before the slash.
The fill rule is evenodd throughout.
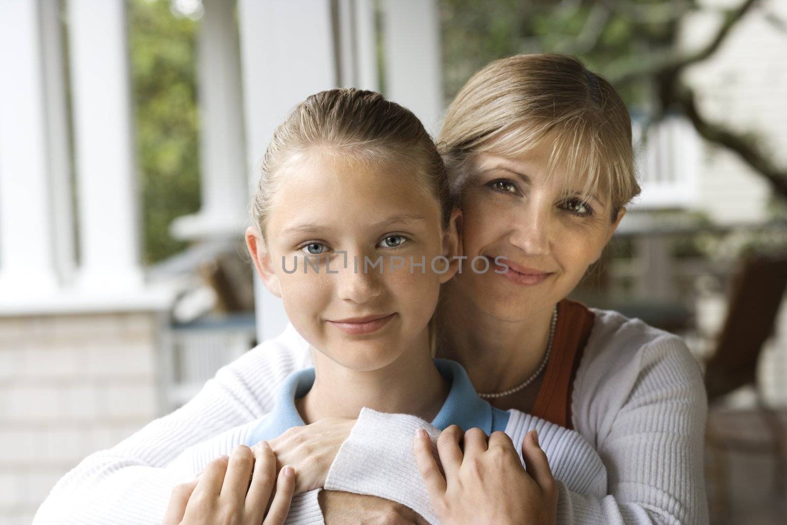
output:
<path id="1" fill-rule="evenodd" d="M 43 296 L 56 289 L 57 250 L 53 177 L 68 174 L 68 157 L 57 136 L 65 131 L 63 103 L 50 97 L 63 85 L 53 78 L 57 57 L 52 50 L 51 0 L 0 2 L 0 301 Z M 46 30 L 45 30 L 46 29 Z M 56 28 L 55 31 L 57 31 Z M 50 60 L 47 60 L 49 58 Z M 47 85 L 47 81 L 50 85 Z M 52 131 L 50 133 L 50 131 Z M 57 153 L 57 155 L 55 154 Z M 51 162 L 57 161 L 57 162 Z M 63 165 L 57 166 L 57 163 Z M 64 219 L 63 217 L 58 217 Z M 66 239 L 67 240 L 67 239 Z"/>

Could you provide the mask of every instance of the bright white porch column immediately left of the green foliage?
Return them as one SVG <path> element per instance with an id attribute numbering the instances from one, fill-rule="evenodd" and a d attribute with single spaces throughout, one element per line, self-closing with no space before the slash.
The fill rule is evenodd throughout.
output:
<path id="1" fill-rule="evenodd" d="M 79 285 L 142 285 L 126 2 L 68 0 L 79 208 Z"/>

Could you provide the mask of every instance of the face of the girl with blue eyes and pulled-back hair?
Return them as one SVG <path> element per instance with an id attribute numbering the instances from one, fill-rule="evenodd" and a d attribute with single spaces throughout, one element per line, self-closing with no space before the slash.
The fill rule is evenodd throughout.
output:
<path id="1" fill-rule="evenodd" d="M 408 350 L 428 351 L 440 284 L 456 270 L 441 275 L 430 261 L 455 252 L 459 212 L 444 233 L 437 198 L 402 168 L 315 152 L 279 176 L 286 179 L 268 216 L 268 250 L 257 250 L 253 228 L 246 239 L 297 331 L 354 370 L 383 368 Z M 425 260 L 425 268 L 411 267 L 411 258 Z M 438 260 L 435 268 L 442 272 L 444 264 Z"/>

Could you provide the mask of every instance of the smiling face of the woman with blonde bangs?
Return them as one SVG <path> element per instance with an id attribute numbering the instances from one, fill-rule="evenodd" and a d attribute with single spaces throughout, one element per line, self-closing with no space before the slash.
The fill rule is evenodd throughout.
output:
<path id="1" fill-rule="evenodd" d="M 453 284 L 478 309 L 524 320 L 552 309 L 597 261 L 615 227 L 603 197 L 567 187 L 566 172 L 548 176 L 552 142 L 515 158 L 478 153 L 462 197 L 461 235 L 468 259 L 506 257 L 508 272 L 460 272 Z M 502 268 L 497 268 L 498 272 Z"/>

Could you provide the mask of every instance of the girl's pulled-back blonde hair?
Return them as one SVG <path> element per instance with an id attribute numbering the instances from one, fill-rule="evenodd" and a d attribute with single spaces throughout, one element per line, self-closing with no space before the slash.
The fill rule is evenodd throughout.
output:
<path id="1" fill-rule="evenodd" d="M 445 165 L 418 117 L 382 94 L 342 88 L 312 94 L 276 128 L 251 205 L 253 223 L 264 240 L 268 216 L 287 168 L 307 161 L 310 152 L 368 165 L 398 165 L 402 172 L 416 175 L 403 183 L 415 182 L 438 199 L 442 227 L 448 225 L 454 204 Z M 432 356 L 435 334 L 433 315 L 429 322 Z"/>

